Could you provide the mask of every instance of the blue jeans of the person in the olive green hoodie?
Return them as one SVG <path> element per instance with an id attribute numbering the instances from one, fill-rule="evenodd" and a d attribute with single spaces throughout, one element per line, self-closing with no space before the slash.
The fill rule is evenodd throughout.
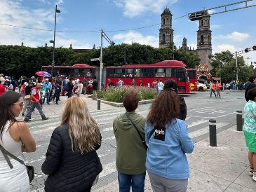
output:
<path id="1" fill-rule="evenodd" d="M 133 192 L 143 192 L 145 177 L 146 172 L 142 174 L 124 174 L 118 172 L 119 192 L 129 192 L 130 186 L 132 186 Z"/>

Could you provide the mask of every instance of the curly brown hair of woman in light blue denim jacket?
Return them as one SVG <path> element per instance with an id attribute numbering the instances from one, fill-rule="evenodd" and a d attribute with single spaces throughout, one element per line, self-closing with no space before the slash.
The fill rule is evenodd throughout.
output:
<path id="1" fill-rule="evenodd" d="M 164 127 L 180 114 L 180 100 L 173 90 L 162 90 L 150 107 L 147 122 L 157 127 Z"/>

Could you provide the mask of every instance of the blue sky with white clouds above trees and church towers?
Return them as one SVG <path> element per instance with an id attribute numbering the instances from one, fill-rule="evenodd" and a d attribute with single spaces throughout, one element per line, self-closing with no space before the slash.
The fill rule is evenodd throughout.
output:
<path id="1" fill-rule="evenodd" d="M 57 15 L 56 46 L 93 48 L 100 46 L 100 29 L 115 43 L 142 43 L 159 46 L 161 13 L 168 7 L 173 14 L 175 45 L 187 38 L 196 48 L 198 21 L 188 20 L 188 13 L 241 0 L 1 0 L 0 45 L 44 46 L 53 39 L 55 5 Z M 193 2 L 193 3 L 191 3 Z M 229 6 L 240 8 L 245 4 Z M 256 0 L 248 1 L 248 6 Z M 224 11 L 215 9 L 211 13 Z M 210 25 L 213 53 L 244 50 L 256 45 L 256 6 L 212 15 Z M 183 18 L 180 18 L 184 16 Z M 50 43 L 48 43 L 49 45 Z M 108 46 L 104 41 L 104 46 Z M 256 51 L 243 54 L 247 62 L 256 62 Z"/>

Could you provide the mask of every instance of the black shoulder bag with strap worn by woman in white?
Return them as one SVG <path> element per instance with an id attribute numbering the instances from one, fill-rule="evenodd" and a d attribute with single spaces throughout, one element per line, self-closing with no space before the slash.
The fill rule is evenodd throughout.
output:
<path id="1" fill-rule="evenodd" d="M 4 147 L 1 146 L 1 144 L 0 144 L 0 151 L 2 151 L 2 153 L 4 155 L 4 158 L 6 159 L 8 165 L 9 165 L 9 167 L 11 169 L 13 168 L 13 165 L 11 164 L 11 161 L 8 158 L 8 156 L 10 156 L 11 158 L 14 158 L 15 160 L 17 160 L 21 164 L 25 165 L 27 167 L 27 174 L 29 176 L 29 183 L 31 183 L 33 181 L 33 179 L 34 179 L 34 167 L 33 166 L 26 165 L 23 160 L 21 160 L 18 157 L 14 156 L 12 153 L 6 151 L 6 149 L 4 149 Z"/>

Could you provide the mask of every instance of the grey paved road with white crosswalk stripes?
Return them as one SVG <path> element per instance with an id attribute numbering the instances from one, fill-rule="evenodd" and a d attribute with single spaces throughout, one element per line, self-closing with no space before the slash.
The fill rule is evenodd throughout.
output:
<path id="1" fill-rule="evenodd" d="M 210 118 L 217 120 L 217 132 L 231 128 L 236 124 L 236 109 L 243 109 L 245 104 L 243 92 L 222 92 L 222 98 L 210 98 L 210 92 L 196 92 L 185 98 L 188 115 L 186 119 L 189 125 L 189 135 L 194 142 L 208 137 L 208 121 Z M 50 106 L 53 107 L 54 106 Z M 150 104 L 143 104 L 137 109 L 137 113 L 147 116 Z M 93 190 L 101 188 L 116 178 L 115 153 L 116 141 L 112 130 L 113 119 L 123 113 L 123 108 L 92 111 L 91 114 L 100 124 L 102 133 L 102 146 L 97 151 L 103 165 L 100 173 L 100 181 L 93 186 Z M 48 121 L 32 121 L 29 128 L 36 139 L 36 153 L 27 153 L 25 157 L 28 163 L 34 165 L 36 176 L 31 184 L 31 191 L 43 191 L 43 182 L 46 175 L 41 172 L 41 164 L 45 159 L 45 153 L 53 130 L 60 124 L 60 116 L 50 118 Z"/>

